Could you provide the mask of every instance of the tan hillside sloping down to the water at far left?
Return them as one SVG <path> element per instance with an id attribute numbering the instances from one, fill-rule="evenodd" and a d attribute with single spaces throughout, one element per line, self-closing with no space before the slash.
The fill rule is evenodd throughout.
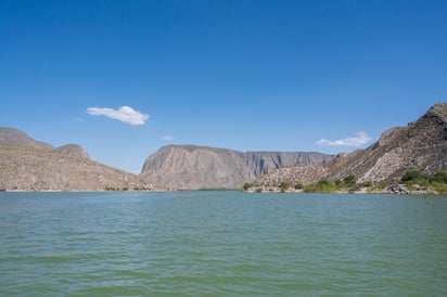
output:
<path id="1" fill-rule="evenodd" d="M 89 159 L 77 144 L 54 148 L 25 132 L 0 128 L 0 189 L 103 191 L 154 189 L 148 180 Z"/>

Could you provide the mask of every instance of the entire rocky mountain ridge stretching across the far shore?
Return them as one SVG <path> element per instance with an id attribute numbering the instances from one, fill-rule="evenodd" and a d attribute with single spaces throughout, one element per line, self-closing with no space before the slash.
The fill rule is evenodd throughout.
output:
<path id="1" fill-rule="evenodd" d="M 0 128 L 0 190 L 104 191 L 263 189 L 280 183 L 392 183 L 409 169 L 447 170 L 447 103 L 433 105 L 417 121 L 383 132 L 379 141 L 349 154 L 239 152 L 197 145 L 168 145 L 149 156 L 140 175 L 90 160 L 77 144 L 53 148 L 23 131 Z"/>

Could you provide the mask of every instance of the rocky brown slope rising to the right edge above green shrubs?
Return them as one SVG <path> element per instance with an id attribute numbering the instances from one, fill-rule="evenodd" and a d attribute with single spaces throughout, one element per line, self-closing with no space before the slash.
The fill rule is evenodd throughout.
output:
<path id="1" fill-rule="evenodd" d="M 296 166 L 276 170 L 254 186 L 276 188 L 281 181 L 309 184 L 321 179 L 341 180 L 353 175 L 358 181 L 399 181 L 407 170 L 425 173 L 447 170 L 447 103 L 433 105 L 417 121 L 392 128 L 366 150 L 339 154 L 319 166 Z"/>

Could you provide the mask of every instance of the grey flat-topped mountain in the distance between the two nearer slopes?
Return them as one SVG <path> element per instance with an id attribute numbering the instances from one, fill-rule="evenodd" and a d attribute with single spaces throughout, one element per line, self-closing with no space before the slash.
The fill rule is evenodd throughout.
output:
<path id="1" fill-rule="evenodd" d="M 235 189 L 278 168 L 332 158 L 319 153 L 243 153 L 208 146 L 168 145 L 146 158 L 140 176 L 173 190 Z"/>

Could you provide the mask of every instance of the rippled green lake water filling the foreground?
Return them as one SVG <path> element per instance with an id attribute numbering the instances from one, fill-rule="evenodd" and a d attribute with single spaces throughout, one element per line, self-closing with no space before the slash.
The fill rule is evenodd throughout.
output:
<path id="1" fill-rule="evenodd" d="M 1 296 L 445 296 L 447 196 L 0 193 Z"/>

